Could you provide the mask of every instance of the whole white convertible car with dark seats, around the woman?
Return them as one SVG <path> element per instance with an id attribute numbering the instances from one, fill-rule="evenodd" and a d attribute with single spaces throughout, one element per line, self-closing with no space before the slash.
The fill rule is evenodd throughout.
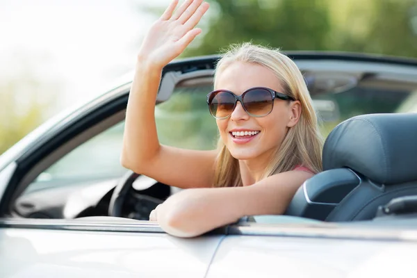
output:
<path id="1" fill-rule="evenodd" d="M 149 222 L 149 212 L 179 189 L 120 165 L 130 74 L 0 156 L 0 277 L 415 272 L 417 60 L 288 55 L 305 76 L 327 139 L 324 171 L 303 184 L 286 215 L 250 216 L 188 239 Z M 163 144 L 215 147 L 206 94 L 218 58 L 165 67 L 155 110 Z"/>

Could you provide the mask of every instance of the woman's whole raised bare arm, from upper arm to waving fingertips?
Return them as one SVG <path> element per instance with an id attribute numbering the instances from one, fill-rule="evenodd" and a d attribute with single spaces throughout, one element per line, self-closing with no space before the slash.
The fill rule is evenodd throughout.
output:
<path id="1" fill-rule="evenodd" d="M 208 10 L 208 3 L 203 0 L 185 0 L 179 8 L 177 5 L 178 0 L 172 1 L 156 20 L 138 52 L 126 108 L 120 161 L 133 172 L 171 186 L 210 187 L 217 150 L 195 151 L 161 145 L 156 129 L 155 104 L 161 70 L 201 33 L 195 26 Z M 178 163 L 179 157 L 181 163 Z"/>

